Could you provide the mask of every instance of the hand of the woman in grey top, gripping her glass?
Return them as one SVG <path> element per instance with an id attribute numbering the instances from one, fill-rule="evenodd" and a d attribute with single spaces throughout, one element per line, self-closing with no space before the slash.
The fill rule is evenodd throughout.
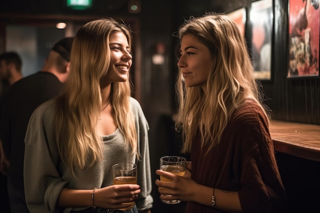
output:
<path id="1" fill-rule="evenodd" d="M 131 204 L 124 203 L 134 202 L 140 193 L 140 185 L 136 184 L 110 185 L 99 188 L 94 194 L 95 206 L 111 209 L 126 208 Z"/>

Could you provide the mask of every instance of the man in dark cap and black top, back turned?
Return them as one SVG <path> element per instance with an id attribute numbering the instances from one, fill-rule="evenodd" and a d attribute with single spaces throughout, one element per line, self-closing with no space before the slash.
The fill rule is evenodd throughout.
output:
<path id="1" fill-rule="evenodd" d="M 26 130 L 33 111 L 61 92 L 70 70 L 72 42 L 72 37 L 58 41 L 39 72 L 20 79 L 10 88 L 9 101 L 2 115 L 0 138 L 10 162 L 7 175 L 11 213 L 29 213 L 23 177 Z M 3 163 L 0 169 L 6 173 Z"/>

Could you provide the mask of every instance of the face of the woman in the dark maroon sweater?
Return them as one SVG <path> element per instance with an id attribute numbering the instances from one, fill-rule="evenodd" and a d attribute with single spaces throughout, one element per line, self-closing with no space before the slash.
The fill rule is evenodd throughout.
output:
<path id="1" fill-rule="evenodd" d="M 212 63 L 209 49 L 197 37 L 191 34 L 182 37 L 178 67 L 187 87 L 200 86 L 206 92 Z"/>

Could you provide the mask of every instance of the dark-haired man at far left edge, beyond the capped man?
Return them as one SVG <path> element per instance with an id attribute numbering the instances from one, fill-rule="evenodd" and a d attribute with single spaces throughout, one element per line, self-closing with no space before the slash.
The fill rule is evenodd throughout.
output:
<path id="1" fill-rule="evenodd" d="M 8 91 L 11 85 L 22 78 L 22 59 L 17 52 L 10 51 L 0 55 L 0 113 L 3 111 L 3 105 L 8 99 Z M 1 119 L 1 117 L 0 117 Z M 5 154 L 5 150 L 0 140 L 0 182 L 1 182 L 1 209 L 10 213 L 10 203 L 7 187 L 7 168 L 9 160 Z"/>

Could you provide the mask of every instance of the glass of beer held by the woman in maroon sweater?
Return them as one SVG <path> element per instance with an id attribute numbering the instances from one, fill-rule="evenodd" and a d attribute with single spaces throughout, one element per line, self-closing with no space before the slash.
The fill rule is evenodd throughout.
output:
<path id="1" fill-rule="evenodd" d="M 165 156 L 160 158 L 160 169 L 175 175 L 184 176 L 186 173 L 186 158 L 178 156 Z M 161 181 L 170 182 L 165 177 L 160 176 Z M 171 195 L 164 195 L 171 196 Z M 161 200 L 167 204 L 177 204 L 180 200 Z"/>

